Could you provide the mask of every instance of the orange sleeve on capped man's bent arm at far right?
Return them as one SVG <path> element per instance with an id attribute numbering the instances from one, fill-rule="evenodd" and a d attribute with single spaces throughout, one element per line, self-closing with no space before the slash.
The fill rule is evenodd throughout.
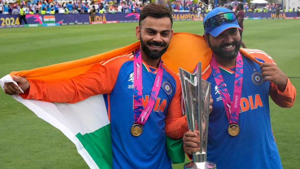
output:
<path id="1" fill-rule="evenodd" d="M 251 54 L 254 58 L 262 59 L 267 63 L 276 64 L 268 54 L 261 50 L 247 49 L 247 53 Z M 287 86 L 283 92 L 278 89 L 277 85 L 270 81 L 269 95 L 276 105 L 283 108 L 290 108 L 295 103 L 296 89 L 288 78 Z"/>

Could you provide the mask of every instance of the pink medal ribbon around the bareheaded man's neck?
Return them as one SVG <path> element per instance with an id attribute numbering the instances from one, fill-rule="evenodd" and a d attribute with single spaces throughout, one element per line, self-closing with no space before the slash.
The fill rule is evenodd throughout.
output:
<path id="1" fill-rule="evenodd" d="M 160 90 L 161 81 L 163 77 L 163 62 L 159 61 L 158 70 L 156 73 L 155 81 L 151 90 L 150 99 L 143 108 L 143 95 L 142 95 L 142 54 L 140 50 L 137 50 L 134 53 L 133 59 L 133 112 L 134 112 L 134 121 L 137 124 L 144 125 L 147 121 L 153 106 L 155 104 L 158 92 Z"/>

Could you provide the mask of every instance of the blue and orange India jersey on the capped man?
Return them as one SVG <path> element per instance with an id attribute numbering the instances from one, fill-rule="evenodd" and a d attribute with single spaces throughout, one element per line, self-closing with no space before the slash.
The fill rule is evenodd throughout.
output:
<path id="1" fill-rule="evenodd" d="M 247 50 L 260 62 L 274 63 L 273 59 L 262 51 Z M 212 76 L 210 65 L 202 79 L 212 85 L 212 112 L 209 115 L 207 161 L 217 164 L 218 169 L 280 169 L 279 153 L 272 133 L 269 95 L 282 107 L 292 104 L 286 97 L 293 95 L 293 86 L 288 80 L 286 91 L 280 92 L 270 81 L 264 82 L 258 64 L 242 56 L 243 82 L 240 101 L 237 136 L 230 136 L 229 122 L 225 113 L 222 97 Z M 225 68 L 218 65 L 232 101 L 235 67 Z"/>

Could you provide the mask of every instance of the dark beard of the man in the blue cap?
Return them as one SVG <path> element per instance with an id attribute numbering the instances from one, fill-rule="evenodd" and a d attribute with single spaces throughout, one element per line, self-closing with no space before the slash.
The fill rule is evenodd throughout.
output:
<path id="1" fill-rule="evenodd" d="M 242 39 L 239 42 L 233 41 L 231 44 L 222 44 L 220 46 L 212 46 L 210 44 L 210 40 L 208 38 L 208 44 L 209 44 L 210 49 L 212 49 L 212 52 L 215 53 L 217 56 L 219 56 L 222 59 L 232 60 L 235 57 L 237 57 L 237 53 L 242 44 Z M 230 45 L 235 46 L 235 48 L 232 51 L 222 51 L 223 47 L 230 46 Z"/>

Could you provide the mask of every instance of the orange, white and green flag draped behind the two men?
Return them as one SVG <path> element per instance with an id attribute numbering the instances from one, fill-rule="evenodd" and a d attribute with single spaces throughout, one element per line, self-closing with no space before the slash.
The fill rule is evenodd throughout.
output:
<path id="1" fill-rule="evenodd" d="M 45 17 L 52 16 L 44 16 L 44 21 Z M 71 78 L 85 73 L 93 64 L 131 53 L 140 48 L 139 44 L 140 42 L 136 42 L 123 48 L 66 63 L 11 72 L 0 79 L 0 85 L 2 89 L 6 82 L 13 82 L 17 85 L 12 80 L 12 75 L 41 80 Z M 176 73 L 178 73 L 178 67 L 192 72 L 196 63 L 201 61 L 203 72 L 209 64 L 211 54 L 211 49 L 206 46 L 201 36 L 190 33 L 174 33 L 171 44 L 162 58 L 164 64 Z M 25 100 L 19 95 L 12 97 L 32 110 L 39 118 L 62 131 L 76 145 L 78 153 L 90 168 L 112 168 L 110 121 L 103 95 L 92 96 L 75 104 Z M 175 153 L 170 151 L 168 154 L 172 159 L 171 156 Z"/>

